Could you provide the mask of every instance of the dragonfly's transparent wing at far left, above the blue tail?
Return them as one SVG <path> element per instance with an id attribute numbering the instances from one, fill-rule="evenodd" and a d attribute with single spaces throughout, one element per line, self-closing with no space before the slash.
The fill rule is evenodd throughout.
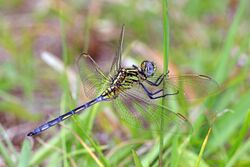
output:
<path id="1" fill-rule="evenodd" d="M 76 63 L 85 96 L 97 97 L 110 84 L 109 78 L 88 54 L 81 54 Z"/>

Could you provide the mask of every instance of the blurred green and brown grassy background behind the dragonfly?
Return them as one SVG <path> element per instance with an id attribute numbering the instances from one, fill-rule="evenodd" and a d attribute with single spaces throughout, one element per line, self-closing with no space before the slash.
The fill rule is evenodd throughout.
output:
<path id="1" fill-rule="evenodd" d="M 168 1 L 170 73 L 206 74 L 221 87 L 209 99 L 177 107 L 194 133 L 164 134 L 163 166 L 250 166 L 249 6 L 248 0 Z M 26 137 L 87 102 L 75 58 L 85 51 L 107 68 L 122 24 L 126 56 L 162 67 L 162 1 L 0 0 L 0 166 L 159 165 L 159 136 L 126 127 L 105 104 Z M 217 119 L 199 156 L 206 112 Z"/>

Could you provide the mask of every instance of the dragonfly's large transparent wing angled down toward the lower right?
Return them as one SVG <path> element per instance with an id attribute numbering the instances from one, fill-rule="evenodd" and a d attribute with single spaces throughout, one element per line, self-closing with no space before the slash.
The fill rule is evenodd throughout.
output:
<path id="1" fill-rule="evenodd" d="M 126 90 L 114 100 L 119 116 L 132 127 L 150 131 L 170 131 L 190 133 L 192 126 L 181 114 L 170 111 L 165 106 L 154 103 L 149 98 L 135 94 L 133 88 Z"/>

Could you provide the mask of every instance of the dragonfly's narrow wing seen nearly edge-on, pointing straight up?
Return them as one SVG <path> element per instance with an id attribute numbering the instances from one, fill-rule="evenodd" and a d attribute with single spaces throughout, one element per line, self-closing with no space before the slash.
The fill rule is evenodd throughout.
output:
<path id="1" fill-rule="evenodd" d="M 122 26 L 120 39 L 119 39 L 118 47 L 116 50 L 116 55 L 113 59 L 113 62 L 110 68 L 110 73 L 109 73 L 110 77 L 113 77 L 117 73 L 117 71 L 121 68 L 121 56 L 122 56 L 124 31 L 125 31 L 125 25 Z"/>

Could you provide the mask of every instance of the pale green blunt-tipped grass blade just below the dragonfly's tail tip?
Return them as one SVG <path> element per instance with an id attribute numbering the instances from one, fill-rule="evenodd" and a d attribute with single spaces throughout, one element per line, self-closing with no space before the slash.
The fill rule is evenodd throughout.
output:
<path id="1" fill-rule="evenodd" d="M 25 139 L 22 146 L 21 155 L 19 157 L 18 167 L 27 167 L 30 160 L 31 153 L 31 142 L 28 139 Z"/>

